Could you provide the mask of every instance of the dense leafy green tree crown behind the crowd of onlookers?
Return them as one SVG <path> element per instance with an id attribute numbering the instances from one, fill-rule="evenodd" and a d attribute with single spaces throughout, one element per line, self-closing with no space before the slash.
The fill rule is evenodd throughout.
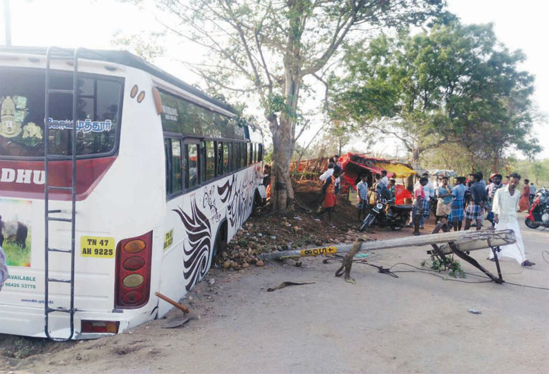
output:
<path id="1" fill-rule="evenodd" d="M 422 152 L 456 143 L 498 168 L 503 150 L 540 150 L 532 135 L 534 77 L 492 25 L 449 23 L 348 48 L 333 115 L 398 137 Z"/>

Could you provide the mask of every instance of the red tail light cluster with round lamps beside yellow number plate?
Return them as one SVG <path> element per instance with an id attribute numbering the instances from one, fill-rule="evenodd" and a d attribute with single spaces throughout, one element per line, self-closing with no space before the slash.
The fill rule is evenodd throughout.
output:
<path id="1" fill-rule="evenodd" d="M 153 232 L 116 246 L 115 308 L 135 309 L 149 302 Z"/>

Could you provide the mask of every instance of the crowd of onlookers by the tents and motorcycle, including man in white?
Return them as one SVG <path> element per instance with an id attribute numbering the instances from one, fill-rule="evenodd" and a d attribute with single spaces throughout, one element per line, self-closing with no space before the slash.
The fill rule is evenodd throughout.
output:
<path id="1" fill-rule="evenodd" d="M 318 216 L 328 213 L 330 221 L 337 204 L 336 195 L 343 174 L 338 159 L 337 155 L 332 157 L 328 169 L 319 177 L 324 185 Z M 454 185 L 451 186 L 449 177 L 437 177 L 433 182 L 429 179 L 429 174 L 424 173 L 413 186 L 413 210 L 409 222 L 409 226 L 413 227 L 413 235 L 420 235 L 420 230 L 425 228 L 425 222 L 431 215 L 431 207 L 437 224 L 447 225 L 449 229 L 456 231 L 469 230 L 472 226 L 481 230 L 483 222 L 487 220 L 492 228 L 511 229 L 517 237 L 516 246 L 504 246 L 498 255 L 514 258 L 522 266 L 533 266 L 534 263 L 525 257 L 517 211 L 528 210 L 536 187 L 528 179 L 524 179 L 522 191 L 519 191 L 520 180 L 521 176 L 517 173 L 506 175 L 505 179 L 500 173 L 493 173 L 485 181 L 483 174 L 476 172 L 470 173 L 468 177 L 454 177 Z M 387 177 L 387 171 L 374 175 L 373 181 L 373 186 L 369 188 L 367 175 L 361 175 L 357 179 L 359 220 L 364 219 L 368 213 L 371 193 L 375 194 L 375 201 L 383 199 L 394 204 L 396 181 Z M 494 261 L 493 253 L 489 259 Z"/>

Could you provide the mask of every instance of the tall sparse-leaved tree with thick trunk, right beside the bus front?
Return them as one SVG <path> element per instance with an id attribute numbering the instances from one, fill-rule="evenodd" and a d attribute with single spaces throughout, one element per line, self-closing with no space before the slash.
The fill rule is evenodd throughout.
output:
<path id="1" fill-rule="evenodd" d="M 139 0 L 132 0 L 137 1 Z M 274 152 L 275 210 L 291 210 L 288 166 L 306 127 L 301 111 L 304 78 L 323 79 L 349 39 L 381 28 L 419 25 L 438 17 L 445 0 L 158 0 L 160 21 L 209 53 L 189 64 L 206 83 L 257 98 Z M 159 17 L 160 18 L 160 17 Z"/>

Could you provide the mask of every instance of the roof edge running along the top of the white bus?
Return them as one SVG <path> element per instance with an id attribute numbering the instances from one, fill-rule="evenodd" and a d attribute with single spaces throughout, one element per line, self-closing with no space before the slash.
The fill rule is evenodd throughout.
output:
<path id="1" fill-rule="evenodd" d="M 47 49 L 48 48 L 45 48 L 45 47 L 0 46 L 0 53 L 8 52 L 8 53 L 21 53 L 26 55 L 44 55 L 45 56 Z M 67 57 L 71 57 L 72 55 L 74 55 L 74 51 L 75 50 L 72 48 L 56 49 L 56 52 L 65 54 L 67 55 Z M 120 65 L 143 70 L 145 72 L 148 72 L 150 75 L 163 79 L 168 83 L 171 83 L 174 86 L 177 86 L 178 88 L 181 88 L 182 90 L 185 90 L 191 93 L 192 95 L 195 95 L 197 97 L 200 97 L 201 99 L 209 101 L 215 106 L 218 106 L 220 108 L 223 108 L 225 110 L 228 110 L 234 113 L 234 108 L 232 108 L 231 106 L 223 103 L 222 101 L 214 99 L 213 97 L 206 95 L 201 90 L 198 90 L 198 88 L 195 88 L 189 85 L 188 83 L 185 83 L 181 79 L 174 77 L 168 72 L 165 72 L 160 68 L 157 68 L 153 64 L 148 63 L 143 59 L 140 59 L 140 57 L 137 57 L 136 55 L 131 54 L 127 50 L 89 50 L 86 48 L 81 48 L 79 52 L 79 56 L 82 59 L 118 63 Z"/>

